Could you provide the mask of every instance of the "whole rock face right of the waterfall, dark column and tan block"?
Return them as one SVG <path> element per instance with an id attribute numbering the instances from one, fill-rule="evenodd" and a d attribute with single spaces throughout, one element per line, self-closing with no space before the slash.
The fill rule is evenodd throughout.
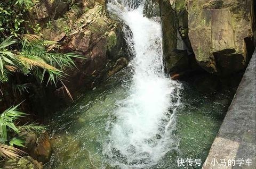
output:
<path id="1" fill-rule="evenodd" d="M 251 0 L 160 0 L 159 5 L 168 72 L 188 69 L 192 49 L 207 72 L 229 75 L 245 68 L 253 49 Z"/>

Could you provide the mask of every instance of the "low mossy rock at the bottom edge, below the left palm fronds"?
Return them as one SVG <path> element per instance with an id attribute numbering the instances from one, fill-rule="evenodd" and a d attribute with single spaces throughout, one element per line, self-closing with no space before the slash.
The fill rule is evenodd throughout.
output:
<path id="1" fill-rule="evenodd" d="M 21 157 L 18 160 L 9 159 L 3 164 L 6 169 L 43 169 L 43 164 L 30 156 Z"/>

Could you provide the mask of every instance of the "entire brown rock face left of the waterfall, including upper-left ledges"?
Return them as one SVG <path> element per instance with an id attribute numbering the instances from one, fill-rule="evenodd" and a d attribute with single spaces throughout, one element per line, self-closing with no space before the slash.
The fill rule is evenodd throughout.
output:
<path id="1" fill-rule="evenodd" d="M 43 37 L 58 41 L 62 52 L 76 52 L 84 57 L 76 59 L 78 69 L 67 70 L 65 85 L 73 96 L 79 89 L 93 88 L 127 65 L 117 61 L 129 61 L 123 26 L 110 19 L 105 0 L 47 0 L 36 6 L 31 15 L 41 25 Z M 54 94 L 62 98 L 63 87 Z"/>

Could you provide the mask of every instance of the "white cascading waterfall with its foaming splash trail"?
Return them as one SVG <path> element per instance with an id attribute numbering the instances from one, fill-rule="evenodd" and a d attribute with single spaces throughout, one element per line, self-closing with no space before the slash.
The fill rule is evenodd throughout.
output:
<path id="1" fill-rule="evenodd" d="M 126 41 L 135 57 L 130 95 L 117 102 L 103 154 L 113 166 L 150 167 L 172 148 L 181 85 L 165 76 L 161 24 L 143 17 L 143 1 L 109 0 L 107 6 L 129 26 L 133 36 Z"/>

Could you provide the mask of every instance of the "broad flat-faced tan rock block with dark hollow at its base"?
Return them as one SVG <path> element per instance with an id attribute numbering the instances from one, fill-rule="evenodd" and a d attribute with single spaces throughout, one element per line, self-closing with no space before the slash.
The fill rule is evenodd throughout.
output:
<path id="1" fill-rule="evenodd" d="M 244 69 L 246 38 L 252 38 L 251 1 L 187 2 L 189 39 L 198 64 L 210 73 L 228 75 Z"/>

